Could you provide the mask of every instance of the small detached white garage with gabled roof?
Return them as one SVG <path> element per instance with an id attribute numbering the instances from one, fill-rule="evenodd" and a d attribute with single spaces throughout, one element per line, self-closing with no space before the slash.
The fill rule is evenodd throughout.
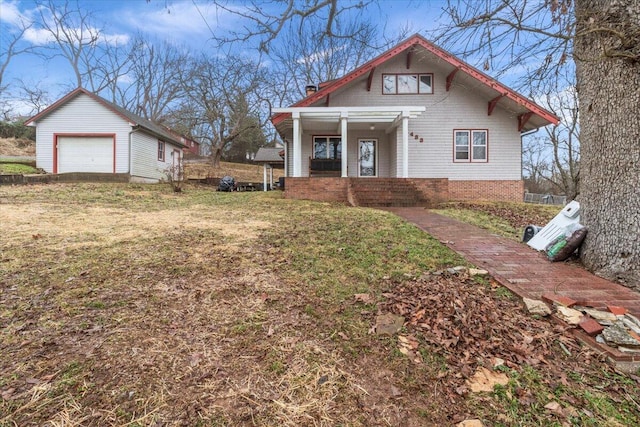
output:
<path id="1" fill-rule="evenodd" d="M 179 135 L 78 88 L 27 120 L 36 127 L 36 166 L 53 174 L 125 175 L 158 182 L 182 161 Z"/>

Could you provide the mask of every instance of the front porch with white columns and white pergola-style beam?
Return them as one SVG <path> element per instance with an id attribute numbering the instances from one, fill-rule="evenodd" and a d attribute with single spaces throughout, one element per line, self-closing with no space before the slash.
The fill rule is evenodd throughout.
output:
<path id="1" fill-rule="evenodd" d="M 285 117 L 279 125 L 285 174 L 408 178 L 409 124 L 424 111 L 424 106 L 275 108 Z M 363 150 L 374 150 L 375 160 L 363 161 Z"/>

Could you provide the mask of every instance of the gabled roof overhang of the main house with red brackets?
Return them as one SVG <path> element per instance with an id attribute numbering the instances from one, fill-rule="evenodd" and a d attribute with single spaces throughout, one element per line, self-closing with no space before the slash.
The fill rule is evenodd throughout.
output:
<path id="1" fill-rule="evenodd" d="M 501 100 L 506 99 L 511 101 L 514 105 L 517 105 L 519 107 L 519 110 L 521 110 L 519 111 L 518 115 L 518 128 L 521 131 L 531 128 L 535 129 L 538 127 L 546 126 L 547 124 L 557 124 L 560 121 L 560 119 L 552 112 L 546 110 L 545 108 L 541 107 L 525 96 L 517 93 L 513 89 L 508 88 L 507 86 L 486 75 L 477 68 L 467 64 L 453 54 L 439 48 L 419 34 L 415 34 L 407 40 L 400 42 L 398 45 L 392 47 L 382 55 L 370 60 L 369 62 L 356 68 L 350 73 L 347 73 L 342 78 L 322 84 L 317 92 L 298 101 L 291 107 L 313 106 L 315 103 L 321 101 L 322 99 L 328 99 L 331 93 L 337 91 L 350 82 L 364 77 L 368 78 L 367 88 L 370 89 L 373 73 L 375 72 L 376 67 L 395 58 L 403 52 L 407 52 L 407 68 L 409 68 L 411 64 L 412 54 L 416 46 L 424 48 L 426 51 L 430 52 L 440 60 L 444 61 L 444 63 L 452 67 L 446 80 L 447 91 L 451 87 L 451 84 L 456 76 L 457 78 L 461 78 L 463 75 L 468 76 L 469 78 L 477 82 L 480 82 L 485 88 L 487 88 L 487 96 L 490 98 L 487 106 L 489 115 Z M 458 72 L 461 72 L 462 74 L 458 75 Z M 289 115 L 290 113 L 275 114 L 272 117 L 271 121 L 274 126 L 277 126 Z M 532 123 L 529 123 L 527 126 L 527 122 L 532 118 L 536 119 L 534 120 L 535 123 L 533 123 L 532 121 Z"/>

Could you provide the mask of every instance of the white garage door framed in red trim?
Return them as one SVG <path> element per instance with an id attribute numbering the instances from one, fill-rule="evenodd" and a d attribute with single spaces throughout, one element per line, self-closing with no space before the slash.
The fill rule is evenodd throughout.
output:
<path id="1" fill-rule="evenodd" d="M 113 173 L 113 137 L 59 137 L 58 173 L 65 172 Z"/>

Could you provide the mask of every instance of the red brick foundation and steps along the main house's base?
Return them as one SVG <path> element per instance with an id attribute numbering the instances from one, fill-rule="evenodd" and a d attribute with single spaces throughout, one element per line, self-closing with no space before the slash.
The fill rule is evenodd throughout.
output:
<path id="1" fill-rule="evenodd" d="M 522 181 L 450 181 L 446 178 L 291 178 L 285 181 L 285 197 L 288 199 L 317 200 L 346 204 L 357 203 L 359 191 L 368 191 L 363 185 L 381 189 L 381 206 L 406 205 L 386 194 L 389 187 L 398 184 L 396 192 L 406 191 L 411 183 L 415 191 L 414 204 L 433 206 L 453 200 L 495 200 L 521 202 L 524 194 Z M 382 189 L 386 189 L 382 191 Z M 394 192 L 394 189 L 388 190 Z M 387 200 L 389 199 L 389 200 Z M 354 203 L 354 201 L 356 203 Z M 411 202 L 410 200 L 408 202 Z M 371 205 L 366 202 L 364 205 Z"/>

